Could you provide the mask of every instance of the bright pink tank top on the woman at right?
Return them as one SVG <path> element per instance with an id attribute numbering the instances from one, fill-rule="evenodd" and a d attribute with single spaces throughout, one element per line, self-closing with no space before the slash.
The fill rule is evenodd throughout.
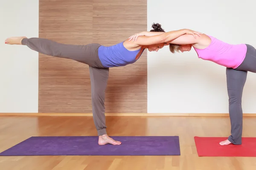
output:
<path id="1" fill-rule="evenodd" d="M 237 68 L 244 61 L 247 51 L 245 44 L 232 45 L 215 37 L 209 37 L 212 42 L 207 48 L 198 49 L 194 47 L 198 58 L 215 62 L 227 68 Z"/>

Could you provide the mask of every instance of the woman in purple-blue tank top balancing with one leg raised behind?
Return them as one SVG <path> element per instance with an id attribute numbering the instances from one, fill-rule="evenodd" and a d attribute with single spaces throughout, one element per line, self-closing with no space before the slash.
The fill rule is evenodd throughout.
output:
<path id="1" fill-rule="evenodd" d="M 159 24 L 153 24 L 152 27 L 154 29 L 150 32 L 143 32 L 144 36 L 138 37 L 136 42 L 129 41 L 132 39 L 130 38 L 117 45 L 112 45 L 111 47 L 104 47 L 98 43 L 90 43 L 87 45 L 61 44 L 43 38 L 27 37 L 10 37 L 5 40 L 5 43 L 10 45 L 26 45 L 41 54 L 73 59 L 87 64 L 89 66 L 91 79 L 93 120 L 99 136 L 98 144 L 119 145 L 121 142 L 110 138 L 106 132 L 105 89 L 108 82 L 109 68 L 112 66 L 131 64 L 137 61 L 144 49 L 147 48 L 149 51 L 158 51 L 165 45 L 169 45 L 166 43 L 167 40 L 174 40 L 182 34 L 199 35 L 198 32 L 188 29 L 156 34 L 157 32 L 164 32 L 164 30 Z M 109 54 L 112 54 L 112 58 L 108 58 Z M 121 60 L 123 63 L 119 63 Z"/>

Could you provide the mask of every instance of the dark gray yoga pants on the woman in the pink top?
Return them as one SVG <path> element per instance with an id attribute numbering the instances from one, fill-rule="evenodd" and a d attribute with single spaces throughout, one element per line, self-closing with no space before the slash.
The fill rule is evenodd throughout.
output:
<path id="1" fill-rule="evenodd" d="M 231 135 L 228 140 L 233 144 L 241 144 L 242 142 L 243 111 L 241 101 L 247 71 L 256 73 L 256 49 L 248 44 L 246 46 L 247 53 L 241 65 L 236 69 L 226 69 L 231 122 Z"/>

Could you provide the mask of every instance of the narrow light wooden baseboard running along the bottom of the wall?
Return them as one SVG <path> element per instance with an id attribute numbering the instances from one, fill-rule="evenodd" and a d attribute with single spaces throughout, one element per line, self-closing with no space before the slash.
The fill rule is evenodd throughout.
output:
<path id="1" fill-rule="evenodd" d="M 105 113 L 106 116 L 229 116 L 229 113 Z M 0 113 L 0 116 L 93 116 L 92 113 Z M 256 116 L 244 113 L 243 116 Z"/>

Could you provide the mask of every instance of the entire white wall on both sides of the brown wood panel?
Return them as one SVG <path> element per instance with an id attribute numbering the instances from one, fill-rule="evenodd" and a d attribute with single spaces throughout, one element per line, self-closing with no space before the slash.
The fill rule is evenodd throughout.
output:
<path id="1" fill-rule="evenodd" d="M 38 112 L 38 53 L 6 45 L 7 37 L 38 37 L 39 0 L 0 3 L 0 113 Z M 148 30 L 189 28 L 229 43 L 256 47 L 255 2 L 251 0 L 148 0 Z M 244 113 L 256 113 L 256 74 L 248 73 Z M 171 54 L 168 46 L 148 52 L 148 113 L 228 113 L 225 68 L 198 59 L 194 50 Z"/>

